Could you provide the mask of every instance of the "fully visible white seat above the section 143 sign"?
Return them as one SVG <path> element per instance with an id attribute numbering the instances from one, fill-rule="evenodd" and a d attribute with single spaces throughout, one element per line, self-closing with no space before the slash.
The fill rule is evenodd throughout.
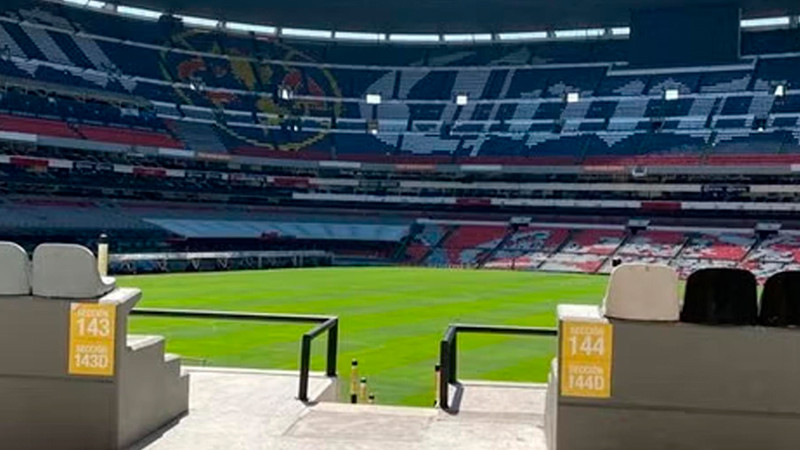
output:
<path id="1" fill-rule="evenodd" d="M 33 295 L 54 298 L 97 298 L 116 287 L 100 277 L 97 259 L 86 247 L 42 244 L 33 251 Z"/>

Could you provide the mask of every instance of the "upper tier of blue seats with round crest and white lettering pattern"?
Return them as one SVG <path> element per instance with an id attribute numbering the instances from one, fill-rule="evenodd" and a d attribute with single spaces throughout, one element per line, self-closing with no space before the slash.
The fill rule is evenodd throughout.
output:
<path id="1" fill-rule="evenodd" d="M 160 102 L 156 117 L 100 103 L 0 98 L 0 110 L 83 122 L 86 132 L 80 132 L 93 140 L 184 148 L 161 121 L 169 119 L 215 123 L 212 132 L 201 132 L 218 135 L 208 145 L 214 153 L 264 157 L 552 165 L 800 162 L 800 95 L 792 91 L 800 85 L 800 57 L 791 53 L 800 47 L 797 30 L 743 33 L 750 55 L 777 52 L 752 68 L 743 63 L 630 75 L 618 71 L 617 62 L 627 58 L 624 40 L 467 50 L 312 45 L 216 30 L 170 34 L 152 21 L 19 3 L 6 8 L 9 20 L 0 23 L 0 48 L 8 54 L 0 58 L 0 74 L 82 94 Z M 790 91 L 776 99 L 770 89 L 779 83 Z M 302 100 L 276 98 L 279 87 Z M 666 89 L 678 89 L 681 98 L 664 100 Z M 383 103 L 367 105 L 371 93 Z M 566 103 L 567 93 L 579 93 L 580 101 Z M 467 94 L 468 104 L 455 105 L 457 94 Z M 756 119 L 766 119 L 763 130 Z M 295 128 L 297 120 L 302 127 Z M 367 131 L 372 120 L 375 135 Z M 101 124 L 136 131 L 88 128 Z M 74 137 L 75 130 L 52 126 L 39 132 Z M 13 122 L 3 129 L 10 128 L 36 127 Z M 184 128 L 191 127 L 174 127 Z M 151 132 L 156 134 L 141 134 Z M 206 151 L 196 141 L 190 148 Z"/>

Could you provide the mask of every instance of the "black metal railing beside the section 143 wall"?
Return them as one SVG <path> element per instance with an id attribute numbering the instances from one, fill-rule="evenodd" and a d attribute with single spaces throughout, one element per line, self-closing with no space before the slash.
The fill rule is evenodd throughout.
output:
<path id="1" fill-rule="evenodd" d="M 303 314 L 266 314 L 238 311 L 207 311 L 196 309 L 136 308 L 132 315 L 149 317 L 172 317 L 179 319 L 234 320 L 251 322 L 315 323 L 316 327 L 303 334 L 300 340 L 300 386 L 297 398 L 308 401 L 308 378 L 311 372 L 311 343 L 314 338 L 328 332 L 328 350 L 325 374 L 336 376 L 336 360 L 339 347 L 339 318 Z"/>

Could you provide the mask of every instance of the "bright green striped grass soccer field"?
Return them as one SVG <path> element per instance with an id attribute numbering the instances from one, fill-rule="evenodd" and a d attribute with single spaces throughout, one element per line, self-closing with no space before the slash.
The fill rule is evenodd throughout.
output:
<path id="1" fill-rule="evenodd" d="M 350 360 L 379 403 L 429 406 L 434 365 L 449 323 L 554 326 L 558 303 L 598 303 L 606 277 L 419 268 L 318 268 L 121 277 L 142 289 L 140 307 L 326 314 L 340 319 L 339 374 Z M 131 318 L 131 332 L 161 334 L 168 351 L 213 366 L 296 369 L 312 325 Z M 313 370 L 324 368 L 325 338 Z M 459 378 L 545 381 L 555 340 L 459 337 Z M 192 363 L 193 361 L 188 361 Z"/>

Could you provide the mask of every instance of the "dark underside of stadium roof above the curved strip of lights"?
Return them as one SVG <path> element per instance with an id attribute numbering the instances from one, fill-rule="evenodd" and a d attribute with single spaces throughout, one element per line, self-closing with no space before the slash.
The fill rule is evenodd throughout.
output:
<path id="1" fill-rule="evenodd" d="M 126 5 L 231 21 L 372 32 L 479 33 L 628 24 L 632 8 L 731 0 L 126 0 Z M 743 17 L 800 14 L 798 0 L 740 0 Z"/>

